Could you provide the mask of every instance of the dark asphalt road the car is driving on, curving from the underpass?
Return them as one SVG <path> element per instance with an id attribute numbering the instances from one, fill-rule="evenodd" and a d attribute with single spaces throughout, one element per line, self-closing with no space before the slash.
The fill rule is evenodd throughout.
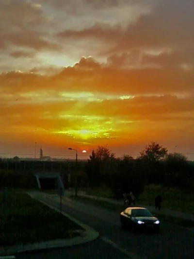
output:
<path id="1" fill-rule="evenodd" d="M 44 198 L 53 207 L 60 208 L 54 200 Z M 67 201 L 63 211 L 99 232 L 91 243 L 36 254 L 20 254 L 17 259 L 68 259 L 79 258 L 133 258 L 133 259 L 194 259 L 194 233 L 162 223 L 159 234 L 125 232 L 120 227 L 117 212 Z"/>

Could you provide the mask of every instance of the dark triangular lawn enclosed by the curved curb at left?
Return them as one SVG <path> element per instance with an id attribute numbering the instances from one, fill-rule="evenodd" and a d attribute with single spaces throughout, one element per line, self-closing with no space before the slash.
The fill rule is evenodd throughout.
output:
<path id="1" fill-rule="evenodd" d="M 7 210 L 4 215 L 2 212 L 1 206 L 0 246 L 68 239 L 78 236 L 75 230 L 81 229 L 20 190 L 8 190 Z"/>

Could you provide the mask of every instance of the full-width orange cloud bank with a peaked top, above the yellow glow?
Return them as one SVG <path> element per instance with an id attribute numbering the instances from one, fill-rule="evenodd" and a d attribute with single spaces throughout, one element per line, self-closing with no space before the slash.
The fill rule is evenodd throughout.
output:
<path id="1" fill-rule="evenodd" d="M 41 88 L 120 95 L 194 93 L 192 70 L 177 67 L 120 69 L 97 63 L 93 58 L 82 58 L 74 67 L 64 68 L 53 76 L 8 73 L 0 76 L 0 82 L 7 89 L 23 92 Z"/>

